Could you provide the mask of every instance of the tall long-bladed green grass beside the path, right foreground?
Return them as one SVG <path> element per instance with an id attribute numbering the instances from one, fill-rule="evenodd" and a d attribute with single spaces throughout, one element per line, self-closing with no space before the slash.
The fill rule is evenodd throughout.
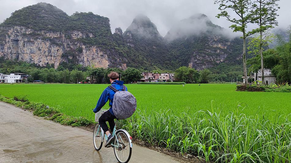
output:
<path id="1" fill-rule="evenodd" d="M 229 112 L 137 112 L 121 123 L 136 139 L 214 162 L 291 161 L 291 122 Z"/>

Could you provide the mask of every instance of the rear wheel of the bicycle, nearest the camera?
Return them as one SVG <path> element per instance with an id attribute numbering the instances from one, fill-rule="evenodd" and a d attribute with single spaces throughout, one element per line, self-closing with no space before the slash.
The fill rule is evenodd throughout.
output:
<path id="1" fill-rule="evenodd" d="M 132 149 L 130 147 L 129 137 L 124 131 L 118 130 L 116 132 L 114 145 L 114 154 L 118 162 L 127 163 L 130 160 Z"/>

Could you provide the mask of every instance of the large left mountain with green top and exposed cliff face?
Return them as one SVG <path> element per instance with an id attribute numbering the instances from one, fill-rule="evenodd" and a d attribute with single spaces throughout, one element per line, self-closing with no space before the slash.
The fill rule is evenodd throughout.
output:
<path id="1" fill-rule="evenodd" d="M 65 15 L 64 19 L 59 21 L 68 22 L 67 26 L 65 24 L 63 26 L 55 25 L 51 30 L 48 30 L 49 27 L 41 24 L 43 17 L 37 15 L 33 15 L 36 16 L 37 23 L 25 24 L 27 22 L 25 21 L 26 15 L 22 10 L 31 11 L 32 8 L 34 10 L 50 8 L 50 11 L 47 12 L 55 10 L 59 13 L 57 16 Z M 46 11 L 41 10 L 40 12 L 41 15 L 47 17 L 48 22 L 49 19 L 57 21 L 55 18 L 51 18 L 51 15 L 47 14 Z M 87 26 L 91 29 L 84 24 L 79 24 L 79 22 L 82 23 L 82 19 L 86 23 L 89 22 Z M 94 21 L 94 19 L 96 20 Z M 60 30 L 58 30 L 59 28 Z M 102 38 L 98 36 L 100 30 L 103 30 L 101 31 Z M 108 31 L 109 34 L 104 35 L 104 30 L 106 30 L 105 34 L 108 34 Z M 40 66 L 53 64 L 55 68 L 62 62 L 103 68 L 119 67 L 124 69 L 127 67 L 124 56 L 120 56 L 120 53 L 114 49 L 100 45 L 100 42 L 104 42 L 102 39 L 113 41 L 110 38 L 110 24 L 108 18 L 93 13 L 75 13 L 69 17 L 55 6 L 39 3 L 13 13 L 10 18 L 1 24 L 0 32 L 0 57 L 3 56 L 5 59 L 16 59 Z"/>

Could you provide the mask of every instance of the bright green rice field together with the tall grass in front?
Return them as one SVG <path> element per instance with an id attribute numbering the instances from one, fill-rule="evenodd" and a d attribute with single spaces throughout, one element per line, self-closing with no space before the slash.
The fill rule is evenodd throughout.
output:
<path id="1" fill-rule="evenodd" d="M 107 86 L 2 84 L 0 94 L 26 96 L 67 115 L 94 120 L 92 108 Z M 206 162 L 291 161 L 291 93 L 236 92 L 231 84 L 127 87 L 137 98 L 138 110 L 119 126 L 134 139 Z"/>

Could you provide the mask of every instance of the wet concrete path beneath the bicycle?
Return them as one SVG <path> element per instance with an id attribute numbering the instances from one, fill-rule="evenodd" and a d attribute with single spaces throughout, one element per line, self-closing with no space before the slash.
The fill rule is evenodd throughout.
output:
<path id="1" fill-rule="evenodd" d="M 118 162 L 112 148 L 96 151 L 93 133 L 33 116 L 0 102 L 0 162 Z M 129 162 L 171 163 L 168 155 L 133 144 Z M 181 161 L 180 161 L 181 162 Z"/>

